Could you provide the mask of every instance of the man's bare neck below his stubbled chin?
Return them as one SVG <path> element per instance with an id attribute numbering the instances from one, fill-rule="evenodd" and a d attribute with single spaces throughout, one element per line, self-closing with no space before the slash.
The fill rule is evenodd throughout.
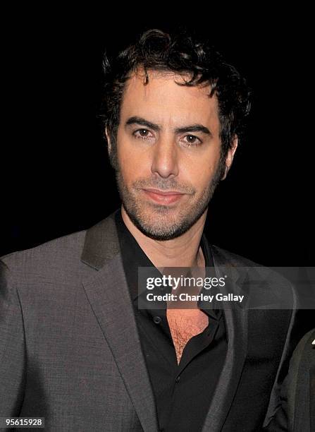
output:
<path id="1" fill-rule="evenodd" d="M 123 222 L 156 267 L 204 267 L 204 256 L 199 244 L 206 222 L 206 212 L 207 210 L 185 234 L 176 239 L 160 241 L 144 235 L 131 222 L 123 206 L 121 208 Z"/>

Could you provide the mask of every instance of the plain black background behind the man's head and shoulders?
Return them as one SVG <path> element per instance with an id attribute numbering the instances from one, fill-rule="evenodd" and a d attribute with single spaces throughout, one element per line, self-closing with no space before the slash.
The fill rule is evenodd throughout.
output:
<path id="1" fill-rule="evenodd" d="M 156 6 L 156 5 L 155 5 Z M 19 11 L 8 16 L 3 91 L 0 255 L 85 229 L 118 208 L 101 138 L 102 56 L 148 28 L 185 24 L 247 77 L 252 114 L 206 234 L 263 265 L 314 265 L 311 26 L 302 17 L 247 11 L 172 16 L 120 11 Z M 264 13 L 263 13 L 264 12 Z"/>

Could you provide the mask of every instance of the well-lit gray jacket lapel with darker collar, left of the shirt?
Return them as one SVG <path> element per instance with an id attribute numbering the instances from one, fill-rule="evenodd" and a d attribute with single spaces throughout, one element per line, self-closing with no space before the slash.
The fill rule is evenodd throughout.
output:
<path id="1" fill-rule="evenodd" d="M 87 230 L 82 261 L 98 270 L 83 286 L 142 428 L 157 431 L 154 395 L 142 355 L 113 215 Z"/>

